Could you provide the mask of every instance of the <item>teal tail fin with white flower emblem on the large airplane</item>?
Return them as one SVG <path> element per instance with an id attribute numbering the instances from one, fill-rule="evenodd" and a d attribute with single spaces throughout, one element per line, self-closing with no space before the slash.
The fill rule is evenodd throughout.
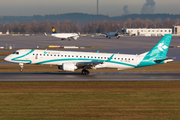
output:
<path id="1" fill-rule="evenodd" d="M 166 58 L 172 34 L 165 35 L 152 49 L 143 60 L 161 60 Z"/>

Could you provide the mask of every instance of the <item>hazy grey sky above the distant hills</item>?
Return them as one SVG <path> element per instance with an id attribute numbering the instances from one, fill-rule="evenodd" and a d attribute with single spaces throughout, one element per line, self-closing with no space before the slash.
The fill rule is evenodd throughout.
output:
<path id="1" fill-rule="evenodd" d="M 154 13 L 180 14 L 179 0 L 154 0 Z M 146 0 L 99 0 L 99 14 L 120 16 L 141 13 Z M 97 0 L 0 0 L 0 16 L 33 16 L 64 13 L 96 14 Z"/>

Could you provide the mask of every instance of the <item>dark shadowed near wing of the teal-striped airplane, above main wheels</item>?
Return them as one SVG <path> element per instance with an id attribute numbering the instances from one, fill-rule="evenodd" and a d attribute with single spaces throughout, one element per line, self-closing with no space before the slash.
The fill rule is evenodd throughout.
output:
<path id="1" fill-rule="evenodd" d="M 96 65 L 103 64 L 102 61 L 91 61 L 91 62 L 77 62 L 78 68 L 93 69 Z"/>

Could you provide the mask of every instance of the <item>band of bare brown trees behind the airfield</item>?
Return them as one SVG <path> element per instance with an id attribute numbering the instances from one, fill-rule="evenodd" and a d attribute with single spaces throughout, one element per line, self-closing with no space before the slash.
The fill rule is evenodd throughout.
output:
<path id="1" fill-rule="evenodd" d="M 70 33 L 107 33 L 111 31 L 121 31 L 122 28 L 172 28 L 173 25 L 179 25 L 180 19 L 176 19 L 175 21 L 167 18 L 164 22 L 161 21 L 161 18 L 157 18 L 155 21 L 150 19 L 142 20 L 137 18 L 135 20 L 131 20 L 128 18 L 124 21 L 95 21 L 95 22 L 86 22 L 86 23 L 73 23 L 69 20 L 64 22 L 36 22 L 33 21 L 31 23 L 18 23 L 15 22 L 13 24 L 6 23 L 5 25 L 0 24 L 0 32 L 6 32 L 9 30 L 10 33 L 14 34 L 43 34 L 51 33 L 51 27 L 54 26 L 56 32 L 70 32 Z"/>

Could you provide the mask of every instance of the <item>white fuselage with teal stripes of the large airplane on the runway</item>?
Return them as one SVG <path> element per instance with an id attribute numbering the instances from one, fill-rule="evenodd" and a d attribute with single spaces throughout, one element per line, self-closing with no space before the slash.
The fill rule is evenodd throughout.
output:
<path id="1" fill-rule="evenodd" d="M 109 60 L 112 57 L 111 60 Z M 91 53 L 73 51 L 52 51 L 21 49 L 5 58 L 6 61 L 23 64 L 47 64 L 62 65 L 63 63 L 79 63 L 101 61 L 103 64 L 96 65 L 95 68 L 135 68 L 143 57 L 129 54 Z"/>

